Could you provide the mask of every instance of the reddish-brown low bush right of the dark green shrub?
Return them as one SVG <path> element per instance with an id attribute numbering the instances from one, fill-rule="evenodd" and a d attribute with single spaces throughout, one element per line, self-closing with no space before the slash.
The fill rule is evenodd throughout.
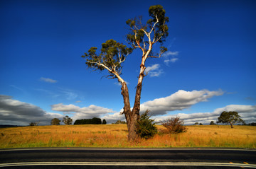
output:
<path id="1" fill-rule="evenodd" d="M 165 127 L 161 132 L 166 134 L 176 134 L 181 132 L 186 132 L 186 127 L 183 126 L 183 120 L 180 117 L 172 117 L 171 119 L 164 120 L 161 124 Z"/>

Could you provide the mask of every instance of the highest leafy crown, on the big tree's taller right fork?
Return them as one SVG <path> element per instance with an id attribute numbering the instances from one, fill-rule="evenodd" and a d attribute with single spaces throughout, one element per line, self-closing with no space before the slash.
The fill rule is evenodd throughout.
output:
<path id="1" fill-rule="evenodd" d="M 166 23 L 169 22 L 169 18 L 165 16 L 165 13 L 163 6 L 156 5 L 150 6 L 149 16 L 151 16 L 151 18 L 146 24 L 142 24 L 142 17 L 128 19 L 126 23 L 129 25 L 131 31 L 127 34 L 127 42 L 134 48 L 142 49 L 144 54 L 146 54 L 147 51 L 152 54 L 152 45 L 156 42 L 160 42 L 162 45 L 169 35 L 169 28 L 166 25 Z M 166 47 L 161 46 L 159 57 L 166 52 L 166 50 Z"/>

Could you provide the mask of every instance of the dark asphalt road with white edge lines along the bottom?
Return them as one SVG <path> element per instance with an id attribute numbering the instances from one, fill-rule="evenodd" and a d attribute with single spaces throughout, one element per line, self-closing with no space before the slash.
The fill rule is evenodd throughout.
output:
<path id="1" fill-rule="evenodd" d="M 0 150 L 0 168 L 256 168 L 256 150 L 28 148 Z"/>

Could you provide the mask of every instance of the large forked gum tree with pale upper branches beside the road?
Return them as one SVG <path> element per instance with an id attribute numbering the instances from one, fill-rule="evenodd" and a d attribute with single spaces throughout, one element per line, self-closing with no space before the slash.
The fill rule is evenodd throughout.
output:
<path id="1" fill-rule="evenodd" d="M 142 81 L 146 76 L 146 60 L 150 58 L 159 58 L 167 48 L 162 46 L 166 37 L 169 35 L 168 26 L 169 18 L 165 16 L 166 11 L 163 6 L 156 5 L 149 7 L 150 19 L 146 23 L 142 22 L 142 17 L 132 18 L 127 20 L 129 33 L 127 33 L 127 42 L 131 47 L 127 47 L 115 40 L 107 40 L 102 43 L 100 53 L 97 53 L 97 47 L 91 47 L 85 55 L 85 64 L 94 70 L 107 70 L 109 78 L 117 78 L 121 83 L 121 94 L 124 100 L 124 107 L 122 115 L 124 114 L 127 121 L 128 139 L 133 141 L 137 138 L 136 124 L 139 121 L 140 100 L 142 93 Z M 160 44 L 160 45 L 156 45 Z M 159 47 L 154 49 L 153 47 Z M 136 93 L 134 98 L 134 105 L 130 105 L 129 91 L 127 82 L 122 78 L 122 66 L 125 59 L 134 49 L 139 49 L 142 52 L 141 62 L 139 65 L 138 82 L 136 86 Z M 154 51 L 159 51 L 158 54 Z M 135 63 L 134 63 L 135 64 Z"/>

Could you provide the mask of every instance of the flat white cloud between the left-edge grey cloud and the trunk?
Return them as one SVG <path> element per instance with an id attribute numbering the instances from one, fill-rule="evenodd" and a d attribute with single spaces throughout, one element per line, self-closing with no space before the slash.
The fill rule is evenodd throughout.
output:
<path id="1" fill-rule="evenodd" d="M 73 121 L 78 119 L 89 119 L 92 117 L 100 117 L 101 115 L 114 112 L 112 109 L 100 107 L 97 105 L 90 105 L 89 107 L 79 107 L 77 105 L 72 105 L 72 104 L 63 105 L 63 103 L 52 105 L 52 110 L 64 112 L 64 113 L 74 112 Z"/>

